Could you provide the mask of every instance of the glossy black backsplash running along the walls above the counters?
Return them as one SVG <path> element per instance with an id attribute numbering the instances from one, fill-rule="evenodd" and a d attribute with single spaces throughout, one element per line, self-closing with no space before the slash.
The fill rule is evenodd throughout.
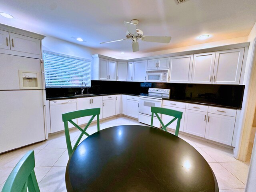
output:
<path id="1" fill-rule="evenodd" d="M 170 89 L 170 99 L 193 101 L 222 106 L 242 108 L 244 85 L 178 84 L 178 83 L 140 83 L 120 81 L 91 81 L 89 93 L 110 94 L 148 93 L 148 88 Z M 46 98 L 72 96 L 81 88 L 46 88 Z M 84 90 L 86 93 L 87 90 Z"/>

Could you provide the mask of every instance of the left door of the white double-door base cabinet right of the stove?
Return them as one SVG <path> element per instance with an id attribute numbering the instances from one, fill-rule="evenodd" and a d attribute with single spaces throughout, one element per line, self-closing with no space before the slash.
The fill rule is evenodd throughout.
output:
<path id="1" fill-rule="evenodd" d="M 204 137 L 207 112 L 186 109 L 184 132 Z"/>

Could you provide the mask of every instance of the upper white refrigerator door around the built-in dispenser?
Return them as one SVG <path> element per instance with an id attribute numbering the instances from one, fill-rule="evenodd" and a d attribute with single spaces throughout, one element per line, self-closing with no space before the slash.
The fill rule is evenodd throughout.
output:
<path id="1" fill-rule="evenodd" d="M 44 89 L 42 85 L 42 70 L 40 59 L 27 58 L 21 56 L 0 54 L 0 90 L 20 90 L 20 81 L 22 76 L 20 72 L 36 72 L 37 77 L 37 88 L 29 89 Z M 29 80 L 29 79 L 28 79 Z"/>

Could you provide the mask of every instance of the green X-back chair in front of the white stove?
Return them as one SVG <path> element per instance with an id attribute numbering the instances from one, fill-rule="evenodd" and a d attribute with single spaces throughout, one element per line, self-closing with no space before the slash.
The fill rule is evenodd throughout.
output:
<path id="1" fill-rule="evenodd" d="M 172 110 L 172 109 L 167 109 L 167 108 L 161 108 L 161 107 L 151 107 L 151 127 L 153 127 L 153 118 L 154 118 L 154 114 L 156 114 L 156 117 L 158 118 L 158 120 L 160 121 L 160 124 L 162 125 L 162 130 L 166 130 L 166 127 L 169 126 L 172 122 L 174 122 L 176 119 L 177 120 L 177 126 L 176 126 L 176 130 L 175 130 L 175 135 L 178 136 L 179 135 L 179 130 L 180 130 L 180 119 L 182 118 L 182 112 L 180 111 L 176 111 L 176 110 Z M 169 116 L 173 116 L 174 118 L 168 122 L 166 125 L 164 125 L 164 123 L 162 122 L 159 114 L 164 114 L 164 115 L 169 115 Z"/>

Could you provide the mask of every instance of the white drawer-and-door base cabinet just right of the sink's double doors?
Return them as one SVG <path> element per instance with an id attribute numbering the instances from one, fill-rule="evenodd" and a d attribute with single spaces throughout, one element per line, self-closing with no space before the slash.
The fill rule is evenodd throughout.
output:
<path id="1" fill-rule="evenodd" d="M 102 117 L 107 118 L 116 115 L 116 96 L 103 96 Z"/>

